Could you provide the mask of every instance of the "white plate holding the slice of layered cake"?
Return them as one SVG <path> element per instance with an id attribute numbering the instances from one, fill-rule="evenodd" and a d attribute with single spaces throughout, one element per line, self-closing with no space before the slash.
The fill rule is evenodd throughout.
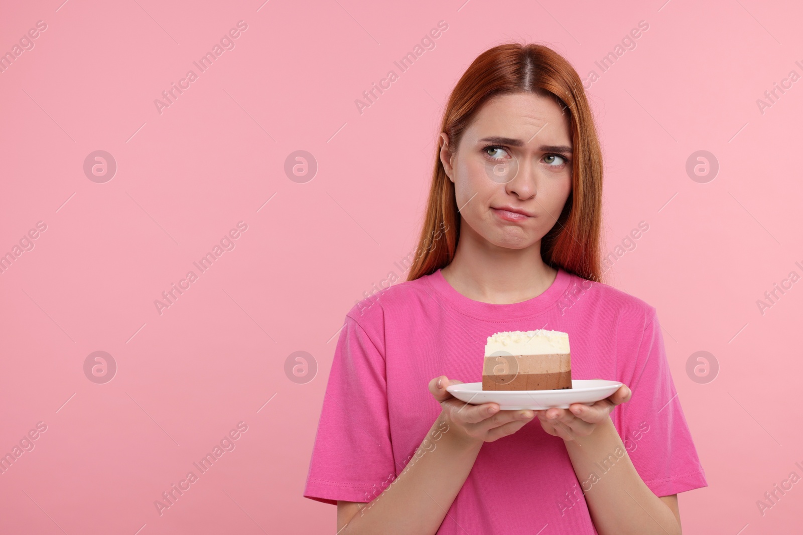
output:
<path id="1" fill-rule="evenodd" d="M 460 383 L 446 387 L 446 391 L 472 405 L 499 403 L 503 411 L 539 411 L 550 407 L 568 409 L 571 403 L 593 405 L 621 386 L 618 381 L 605 379 L 572 379 L 572 387 L 563 390 L 483 390 L 483 383 Z"/>

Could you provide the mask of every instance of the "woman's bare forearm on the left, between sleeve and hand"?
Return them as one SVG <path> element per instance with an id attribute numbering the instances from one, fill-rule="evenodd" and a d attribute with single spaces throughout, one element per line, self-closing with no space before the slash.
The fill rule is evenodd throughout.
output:
<path id="1" fill-rule="evenodd" d="M 438 531 L 483 444 L 451 432 L 442 416 L 384 492 L 368 504 L 337 502 L 339 535 Z"/>

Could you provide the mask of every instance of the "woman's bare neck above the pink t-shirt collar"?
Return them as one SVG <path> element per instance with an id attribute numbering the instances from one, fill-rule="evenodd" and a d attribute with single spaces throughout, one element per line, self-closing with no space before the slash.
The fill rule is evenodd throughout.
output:
<path id="1" fill-rule="evenodd" d="M 465 224 L 460 225 L 454 258 L 441 273 L 460 294 L 495 304 L 532 299 L 557 276 L 557 270 L 541 259 L 540 240 L 524 249 L 499 247 Z"/>

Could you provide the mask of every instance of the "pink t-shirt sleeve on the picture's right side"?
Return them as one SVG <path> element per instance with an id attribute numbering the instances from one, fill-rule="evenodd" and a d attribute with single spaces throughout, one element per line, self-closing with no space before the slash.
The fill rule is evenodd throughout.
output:
<path id="1" fill-rule="evenodd" d="M 633 395 L 617 407 L 618 427 L 644 483 L 656 496 L 669 496 L 708 484 L 675 390 L 654 307 L 648 315 L 634 365 L 623 374 Z"/>

